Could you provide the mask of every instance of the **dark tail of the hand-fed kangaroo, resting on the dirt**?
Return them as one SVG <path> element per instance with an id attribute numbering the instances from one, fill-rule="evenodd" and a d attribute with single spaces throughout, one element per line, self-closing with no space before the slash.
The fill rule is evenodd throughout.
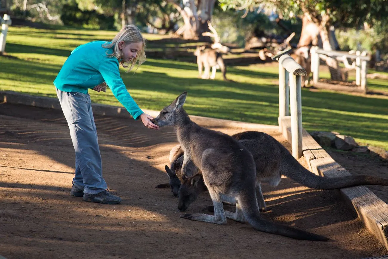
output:
<path id="1" fill-rule="evenodd" d="M 325 236 L 317 235 L 314 233 L 309 233 L 296 228 L 291 228 L 289 226 L 284 226 L 271 221 L 266 221 L 260 217 L 259 208 L 257 202 L 254 199 L 249 199 L 249 201 L 244 202 L 240 201 L 242 212 L 245 219 L 253 226 L 253 228 L 272 233 L 275 235 L 287 236 L 294 239 L 301 240 L 311 240 L 311 241 L 327 241 L 328 238 Z"/>

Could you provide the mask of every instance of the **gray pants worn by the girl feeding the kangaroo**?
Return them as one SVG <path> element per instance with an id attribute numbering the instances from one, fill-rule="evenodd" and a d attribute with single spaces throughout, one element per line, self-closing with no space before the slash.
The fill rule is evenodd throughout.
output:
<path id="1" fill-rule="evenodd" d="M 57 89 L 75 149 L 74 184 L 84 193 L 97 194 L 107 188 L 89 94 Z"/>

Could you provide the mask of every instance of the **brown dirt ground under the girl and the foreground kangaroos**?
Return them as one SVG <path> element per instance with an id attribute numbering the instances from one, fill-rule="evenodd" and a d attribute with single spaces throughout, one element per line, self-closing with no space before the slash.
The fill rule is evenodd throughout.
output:
<path id="1" fill-rule="evenodd" d="M 338 190 L 308 189 L 287 178 L 276 188 L 263 185 L 270 209 L 263 215 L 329 241 L 294 240 L 229 219 L 226 226 L 182 219 L 170 190 L 154 188 L 168 181 L 164 166 L 177 144 L 173 129 L 149 130 L 141 122 L 107 116 L 95 116 L 95 121 L 104 178 L 121 196 L 118 205 L 70 196 L 74 149 L 61 111 L 0 104 L 0 255 L 353 259 L 387 254 Z M 278 132 L 266 132 L 289 148 Z M 344 154 L 339 157 L 352 156 Z M 361 169 L 379 163 L 383 167 L 378 161 L 356 157 L 352 163 L 360 162 Z M 208 205 L 211 200 L 204 193 L 185 213 L 200 212 Z"/>

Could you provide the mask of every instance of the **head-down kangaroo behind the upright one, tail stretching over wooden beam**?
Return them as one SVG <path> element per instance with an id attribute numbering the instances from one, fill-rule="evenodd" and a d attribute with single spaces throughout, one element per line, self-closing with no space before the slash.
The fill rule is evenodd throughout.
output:
<path id="1" fill-rule="evenodd" d="M 244 145 L 255 160 L 256 196 L 262 211 L 267 210 L 267 207 L 260 183 L 269 183 L 271 186 L 277 186 L 281 181 L 282 175 L 313 189 L 339 189 L 358 185 L 388 185 L 387 179 L 375 176 L 357 175 L 330 178 L 317 176 L 305 169 L 279 141 L 263 132 L 246 131 L 234 134 L 232 137 Z M 175 166 L 177 167 L 178 165 Z M 177 171 L 177 175 L 181 174 L 178 178 L 181 179 L 182 183 L 179 188 L 179 200 L 182 209 L 187 209 L 190 203 L 194 202 L 197 196 L 203 192 L 201 181 L 192 181 L 190 179 L 190 177 L 195 176 L 195 173 L 193 169 L 186 175 L 184 172 Z M 197 179 L 196 177 L 201 177 L 201 175 L 195 176 L 194 179 Z"/>

